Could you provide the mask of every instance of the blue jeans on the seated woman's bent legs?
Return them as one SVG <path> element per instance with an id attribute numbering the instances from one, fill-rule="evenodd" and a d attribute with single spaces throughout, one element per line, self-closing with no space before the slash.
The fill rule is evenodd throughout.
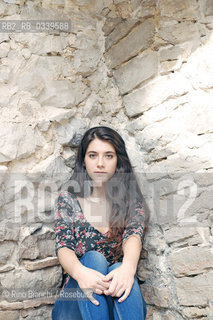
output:
<path id="1" fill-rule="evenodd" d="M 81 263 L 91 269 L 106 275 L 121 265 L 114 263 L 108 267 L 108 262 L 103 254 L 97 251 L 88 251 L 81 259 Z M 64 293 L 69 289 L 80 290 L 78 283 L 73 278 L 64 288 Z M 72 291 L 73 292 L 73 291 Z M 141 294 L 136 276 L 129 296 L 123 302 L 118 302 L 119 297 L 95 295 L 99 305 L 94 305 L 88 298 L 79 300 L 61 300 L 55 302 L 53 320 L 144 320 L 146 318 L 146 302 Z"/>

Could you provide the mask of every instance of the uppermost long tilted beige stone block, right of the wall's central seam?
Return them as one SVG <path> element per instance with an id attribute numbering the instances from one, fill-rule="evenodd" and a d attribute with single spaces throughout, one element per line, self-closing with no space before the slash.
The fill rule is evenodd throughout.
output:
<path id="1" fill-rule="evenodd" d="M 137 25 L 105 54 L 109 67 L 115 68 L 140 51 L 147 49 L 153 42 L 154 31 L 155 26 L 152 20 L 146 20 Z"/>

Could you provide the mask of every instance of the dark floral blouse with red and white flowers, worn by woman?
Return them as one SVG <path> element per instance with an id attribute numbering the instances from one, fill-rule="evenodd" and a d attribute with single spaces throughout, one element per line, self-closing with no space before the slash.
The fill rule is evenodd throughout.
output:
<path id="1" fill-rule="evenodd" d="M 76 195 L 67 191 L 60 193 L 55 206 L 55 215 L 56 253 L 60 248 L 67 247 L 81 258 L 87 251 L 95 250 L 106 257 L 109 265 L 122 261 L 123 254 L 115 256 L 113 253 L 117 242 L 107 241 L 109 232 L 101 233 L 86 220 Z M 130 217 L 120 240 L 123 242 L 130 235 L 136 234 L 143 242 L 144 228 L 143 204 L 138 201 L 135 213 Z"/>

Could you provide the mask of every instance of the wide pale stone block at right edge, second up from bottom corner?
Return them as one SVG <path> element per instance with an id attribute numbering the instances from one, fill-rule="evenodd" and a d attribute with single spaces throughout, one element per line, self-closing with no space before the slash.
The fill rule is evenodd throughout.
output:
<path id="1" fill-rule="evenodd" d="M 183 248 L 171 253 L 169 262 L 177 277 L 195 275 L 213 268 L 213 253 L 205 247 Z"/>

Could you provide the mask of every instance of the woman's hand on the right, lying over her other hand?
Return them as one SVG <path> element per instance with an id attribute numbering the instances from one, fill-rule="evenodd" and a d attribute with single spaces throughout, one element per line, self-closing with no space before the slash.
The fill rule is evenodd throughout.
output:
<path id="1" fill-rule="evenodd" d="M 132 289 L 134 275 L 135 273 L 131 267 L 121 264 L 120 267 L 112 270 L 104 277 L 104 281 L 106 282 L 112 279 L 109 288 L 104 290 L 104 294 L 112 297 L 120 297 L 124 293 L 118 302 L 124 301 Z"/>

